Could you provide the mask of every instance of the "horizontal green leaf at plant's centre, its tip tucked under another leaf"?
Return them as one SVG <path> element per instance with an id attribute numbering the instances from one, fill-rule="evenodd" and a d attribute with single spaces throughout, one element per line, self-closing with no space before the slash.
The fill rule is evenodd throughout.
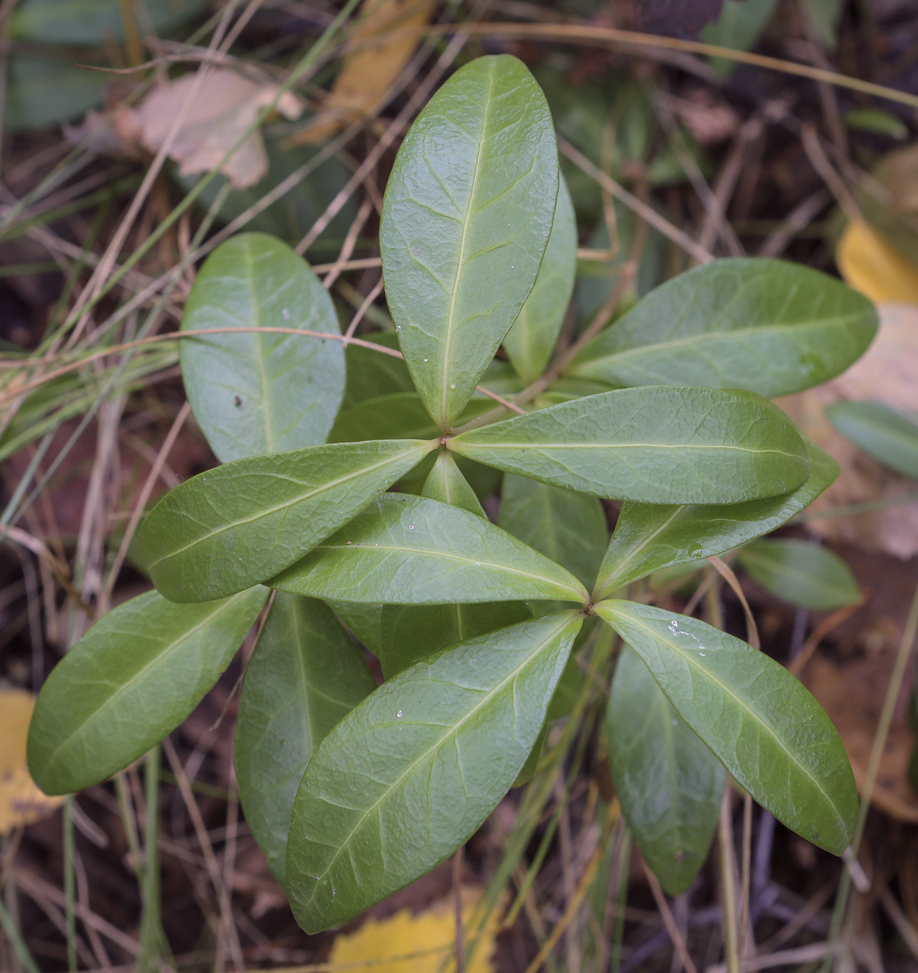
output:
<path id="1" fill-rule="evenodd" d="M 563 567 L 493 523 L 436 500 L 386 493 L 271 587 L 381 604 L 529 598 L 583 601 Z"/>

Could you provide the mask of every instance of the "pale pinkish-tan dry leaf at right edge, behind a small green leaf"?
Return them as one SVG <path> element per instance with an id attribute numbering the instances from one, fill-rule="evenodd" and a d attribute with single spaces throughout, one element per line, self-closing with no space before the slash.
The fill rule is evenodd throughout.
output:
<path id="1" fill-rule="evenodd" d="M 808 510 L 820 513 L 874 500 L 895 501 L 915 492 L 911 480 L 881 466 L 840 433 L 823 409 L 841 399 L 882 402 L 900 412 L 918 413 L 918 306 L 880 305 L 880 328 L 865 355 L 825 385 L 777 400 L 794 422 L 841 467 L 841 474 Z M 901 559 L 918 554 L 918 503 L 893 503 L 881 510 L 811 521 L 809 527 L 831 541 Z"/>

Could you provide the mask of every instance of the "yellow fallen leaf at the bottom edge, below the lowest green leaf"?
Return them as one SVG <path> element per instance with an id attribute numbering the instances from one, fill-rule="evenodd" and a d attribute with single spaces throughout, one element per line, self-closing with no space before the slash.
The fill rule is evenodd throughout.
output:
<path id="1" fill-rule="evenodd" d="M 481 898 L 479 888 L 463 886 L 462 919 L 468 926 Z M 466 973 L 493 973 L 491 954 L 499 922 L 499 910 L 492 911 L 478 941 Z M 446 961 L 455 949 L 456 919 L 452 898 L 441 899 L 417 916 L 407 909 L 388 919 L 367 919 L 356 932 L 339 935 L 332 946 L 329 964 L 347 965 L 357 973 L 366 963 L 372 973 L 455 973 L 455 959 Z"/>

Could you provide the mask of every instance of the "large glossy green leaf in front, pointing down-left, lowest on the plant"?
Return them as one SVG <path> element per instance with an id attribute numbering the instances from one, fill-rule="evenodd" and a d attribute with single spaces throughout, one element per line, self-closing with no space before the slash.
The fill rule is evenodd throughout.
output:
<path id="1" fill-rule="evenodd" d="M 384 683 L 322 741 L 287 846 L 306 932 L 356 916 L 477 830 L 542 730 L 581 620 L 564 612 L 447 649 Z"/>

